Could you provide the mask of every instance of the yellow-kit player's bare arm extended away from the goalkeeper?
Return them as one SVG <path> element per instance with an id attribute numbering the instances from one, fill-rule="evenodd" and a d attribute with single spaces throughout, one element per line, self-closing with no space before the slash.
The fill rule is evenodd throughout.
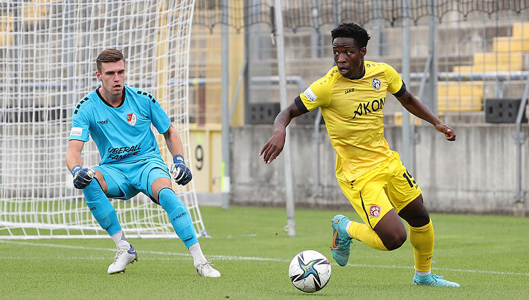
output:
<path id="1" fill-rule="evenodd" d="M 439 118 L 437 118 L 421 101 L 415 98 L 411 92 L 406 90 L 406 92 L 404 92 L 402 96 L 397 97 L 397 99 L 402 103 L 402 106 L 408 110 L 408 112 L 411 112 L 424 121 L 431 123 L 435 126 L 437 131 L 444 133 L 444 137 L 446 137 L 448 141 L 455 141 L 454 130 L 439 120 Z"/>

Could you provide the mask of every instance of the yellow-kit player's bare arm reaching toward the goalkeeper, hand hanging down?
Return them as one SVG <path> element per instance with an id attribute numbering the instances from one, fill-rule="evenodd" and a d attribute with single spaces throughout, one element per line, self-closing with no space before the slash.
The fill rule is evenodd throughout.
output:
<path id="1" fill-rule="evenodd" d="M 264 163 L 271 163 L 274 159 L 278 157 L 284 147 L 284 138 L 287 134 L 287 126 L 293 118 L 303 114 L 295 105 L 292 103 L 289 107 L 282 110 L 276 120 L 273 121 L 273 134 L 272 137 L 267 141 L 267 143 L 262 148 L 259 156 L 263 156 L 262 159 Z"/>

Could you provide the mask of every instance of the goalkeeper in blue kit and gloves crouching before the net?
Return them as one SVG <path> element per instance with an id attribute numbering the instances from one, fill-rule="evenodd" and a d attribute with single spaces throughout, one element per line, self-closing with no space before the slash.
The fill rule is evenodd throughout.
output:
<path id="1" fill-rule="evenodd" d="M 86 94 L 74 108 L 66 165 L 74 176 L 75 188 L 83 190 L 90 212 L 118 248 L 108 274 L 125 272 L 129 263 L 138 260 L 108 198 L 130 199 L 143 192 L 169 215 L 176 234 L 191 252 L 198 275 L 220 277 L 200 249 L 189 211 L 172 190 L 151 124 L 163 134 L 174 157 L 172 178 L 185 186 L 191 181 L 191 172 L 182 156 L 178 132 L 151 94 L 125 86 L 125 57 L 119 50 L 103 50 L 96 65 L 101 87 Z M 99 166 L 94 168 L 83 167 L 81 160 L 89 133 L 101 155 Z"/>

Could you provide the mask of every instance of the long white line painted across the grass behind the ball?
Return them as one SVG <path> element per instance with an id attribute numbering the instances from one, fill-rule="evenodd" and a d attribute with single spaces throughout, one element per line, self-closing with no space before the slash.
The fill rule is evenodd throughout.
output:
<path id="1" fill-rule="evenodd" d="M 30 243 L 30 242 L 24 242 L 24 241 L 2 241 L 0 240 L 0 243 L 10 243 L 10 244 L 16 244 L 16 245 L 26 245 L 26 246 L 42 246 L 42 247 L 54 247 L 54 248 L 69 248 L 69 249 L 82 249 L 82 250 L 101 250 L 101 251 L 112 251 L 115 252 L 116 249 L 111 248 L 92 248 L 92 247 L 85 247 L 85 246 L 69 246 L 69 245 L 58 245 L 53 243 Z M 138 253 L 141 254 L 160 254 L 160 255 L 172 255 L 177 257 L 182 257 L 180 259 L 184 259 L 183 257 L 191 257 L 191 254 L 189 253 L 177 253 L 177 252 L 161 252 L 161 251 L 142 251 L 137 250 Z M 277 261 L 282 263 L 288 263 L 290 260 L 287 259 L 274 259 L 274 258 L 267 258 L 267 257 L 238 257 L 238 256 L 231 256 L 231 255 L 208 255 L 208 257 L 212 259 L 223 259 L 228 261 Z M 3 257 L 0 257 L 3 258 Z M 105 258 L 106 259 L 106 258 Z M 151 258 L 145 258 L 145 259 L 151 259 Z M 156 258 L 156 259 L 167 259 L 167 258 Z M 167 259 L 170 260 L 170 259 Z M 332 263 L 335 266 L 338 266 L 336 263 Z M 390 268 L 390 269 L 411 269 L 413 267 L 411 266 L 379 266 L 379 265 L 366 265 L 366 264 L 352 264 L 348 263 L 347 266 L 349 267 L 355 267 L 355 268 Z M 490 270 L 465 270 L 465 269 L 453 269 L 453 268 L 432 268 L 433 270 L 443 270 L 443 271 L 451 271 L 451 272 L 468 272 L 468 273 L 479 273 L 479 274 L 497 274 L 497 275 L 519 275 L 519 276 L 529 276 L 529 273 L 522 273 L 522 272 L 501 272 L 501 271 L 490 271 Z"/>

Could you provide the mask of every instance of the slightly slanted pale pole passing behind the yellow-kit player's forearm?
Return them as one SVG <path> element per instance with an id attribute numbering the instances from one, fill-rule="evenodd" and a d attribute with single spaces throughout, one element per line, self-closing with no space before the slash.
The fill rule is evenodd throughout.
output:
<path id="1" fill-rule="evenodd" d="M 279 97 L 281 110 L 287 108 L 287 73 L 284 66 L 284 34 L 283 34 L 283 14 L 281 0 L 275 0 L 276 9 L 276 50 L 278 52 L 278 76 L 279 76 Z M 295 237 L 295 216 L 294 216 L 294 194 L 292 185 L 292 168 L 290 159 L 290 130 L 287 126 L 284 137 L 284 184 L 287 202 L 287 226 L 289 237 Z"/>

